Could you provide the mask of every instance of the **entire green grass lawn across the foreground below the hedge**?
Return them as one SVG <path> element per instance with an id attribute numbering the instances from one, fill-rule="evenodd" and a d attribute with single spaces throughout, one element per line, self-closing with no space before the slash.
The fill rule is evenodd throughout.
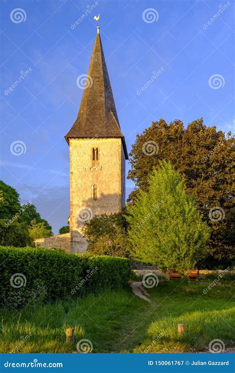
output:
<path id="1" fill-rule="evenodd" d="M 95 353 L 203 351 L 213 339 L 234 346 L 234 287 L 217 285 L 204 294 L 209 283 L 159 282 L 148 289 L 151 303 L 127 288 L 0 309 L 0 352 L 73 352 L 80 339 L 90 340 Z M 177 323 L 184 323 L 183 335 Z M 65 342 L 66 327 L 74 328 L 74 343 Z"/>

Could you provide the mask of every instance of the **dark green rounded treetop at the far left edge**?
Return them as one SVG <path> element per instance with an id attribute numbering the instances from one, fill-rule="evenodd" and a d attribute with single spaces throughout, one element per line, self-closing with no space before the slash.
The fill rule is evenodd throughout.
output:
<path id="1" fill-rule="evenodd" d="M 19 194 L 0 180 L 0 219 L 11 219 L 19 211 Z"/>

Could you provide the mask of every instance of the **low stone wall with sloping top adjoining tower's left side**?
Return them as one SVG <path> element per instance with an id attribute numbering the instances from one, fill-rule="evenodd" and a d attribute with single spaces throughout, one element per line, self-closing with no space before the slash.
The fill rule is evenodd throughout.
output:
<path id="1" fill-rule="evenodd" d="M 70 253 L 70 233 L 57 234 L 55 236 L 38 238 L 34 241 L 35 246 L 42 246 L 46 249 L 62 249 Z"/>

